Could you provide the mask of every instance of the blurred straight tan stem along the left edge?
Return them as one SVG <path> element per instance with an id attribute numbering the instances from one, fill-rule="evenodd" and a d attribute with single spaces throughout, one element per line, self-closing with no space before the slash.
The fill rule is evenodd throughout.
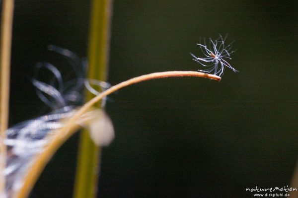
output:
<path id="1" fill-rule="evenodd" d="M 9 113 L 9 75 L 11 54 L 11 33 L 13 18 L 13 0 L 2 1 L 1 15 L 1 49 L 0 49 L 0 196 L 5 191 L 4 169 L 6 165 L 6 146 L 3 139 L 6 138 Z"/>

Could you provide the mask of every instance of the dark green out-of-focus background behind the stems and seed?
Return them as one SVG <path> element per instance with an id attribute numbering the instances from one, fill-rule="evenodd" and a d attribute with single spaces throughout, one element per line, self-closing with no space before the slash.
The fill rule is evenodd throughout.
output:
<path id="1" fill-rule="evenodd" d="M 10 126 L 46 113 L 29 79 L 40 61 L 64 74 L 55 44 L 86 56 L 90 2 L 15 0 Z M 289 185 L 298 153 L 298 2 L 115 0 L 109 82 L 197 70 L 200 37 L 235 40 L 220 83 L 176 78 L 110 96 L 116 139 L 103 149 L 99 196 L 250 198 Z M 31 198 L 71 198 L 77 135 L 54 156 Z"/>

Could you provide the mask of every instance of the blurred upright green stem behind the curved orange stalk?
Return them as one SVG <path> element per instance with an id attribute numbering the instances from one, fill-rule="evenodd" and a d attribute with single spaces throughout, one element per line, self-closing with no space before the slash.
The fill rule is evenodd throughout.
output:
<path id="1" fill-rule="evenodd" d="M 112 0 L 92 0 L 88 49 L 88 78 L 107 80 Z M 86 100 L 92 98 L 86 93 Z M 74 198 L 94 198 L 97 192 L 100 147 L 84 130 L 80 134 Z"/>

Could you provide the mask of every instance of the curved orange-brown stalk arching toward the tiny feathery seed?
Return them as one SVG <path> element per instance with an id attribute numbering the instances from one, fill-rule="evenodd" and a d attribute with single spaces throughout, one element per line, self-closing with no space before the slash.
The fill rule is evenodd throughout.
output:
<path id="1" fill-rule="evenodd" d="M 123 87 L 136 84 L 142 81 L 156 79 L 156 78 L 182 77 L 182 76 L 203 77 L 203 78 L 209 78 L 209 79 L 218 80 L 218 81 L 221 80 L 221 77 L 219 76 L 197 72 L 197 71 L 165 71 L 165 72 L 156 72 L 156 73 L 150 73 L 150 74 L 134 77 L 132 79 L 121 82 L 103 91 L 101 94 L 95 96 L 89 102 L 84 104 L 74 114 L 72 118 L 65 121 L 64 127 L 52 133 L 55 135 L 49 135 L 48 138 L 50 138 L 50 142 L 45 146 L 44 150 L 35 157 L 32 166 L 29 168 L 29 170 L 25 175 L 23 186 L 17 192 L 17 195 L 15 198 L 26 198 L 28 196 L 37 178 L 39 177 L 45 165 L 51 159 L 53 154 L 70 136 L 74 134 L 74 132 L 76 132 L 79 129 L 79 125 L 77 123 L 79 123 L 78 121 L 80 120 L 81 116 L 85 114 L 94 104 L 99 102 L 102 98 L 108 96 L 109 94 Z M 89 168 L 92 168 L 92 167 L 89 167 Z"/>

